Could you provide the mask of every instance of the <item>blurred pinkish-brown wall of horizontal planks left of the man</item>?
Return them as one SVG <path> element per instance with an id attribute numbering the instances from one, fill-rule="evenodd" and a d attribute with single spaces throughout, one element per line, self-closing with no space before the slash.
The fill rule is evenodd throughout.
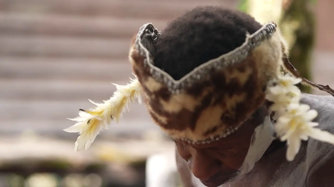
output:
<path id="1" fill-rule="evenodd" d="M 130 41 L 151 22 L 167 22 L 196 5 L 233 7 L 233 0 L 0 0 L 1 133 L 34 130 L 64 133 L 88 99 L 108 99 L 126 84 L 132 68 Z M 110 133 L 142 133 L 155 128 L 144 106 Z M 9 125 L 10 124 L 10 125 Z"/>

